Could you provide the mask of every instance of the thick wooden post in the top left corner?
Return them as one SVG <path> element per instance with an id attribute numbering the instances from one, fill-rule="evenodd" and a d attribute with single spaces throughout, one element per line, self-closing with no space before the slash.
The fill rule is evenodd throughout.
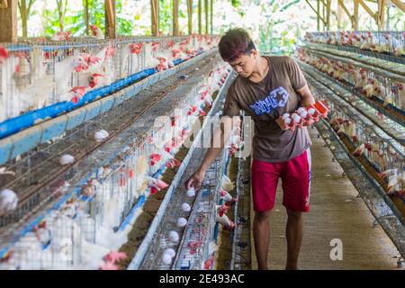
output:
<path id="1" fill-rule="evenodd" d="M 4 0 L 3 0 L 4 2 Z M 16 42 L 17 35 L 17 1 L 7 0 L 3 3 L 4 8 L 0 8 L 0 23 L 2 32 L 0 33 L 0 42 Z"/>

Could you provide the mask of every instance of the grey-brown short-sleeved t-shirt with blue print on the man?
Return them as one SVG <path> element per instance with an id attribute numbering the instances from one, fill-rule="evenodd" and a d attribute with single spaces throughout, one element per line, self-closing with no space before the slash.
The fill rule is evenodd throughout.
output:
<path id="1" fill-rule="evenodd" d="M 223 115 L 237 116 L 244 110 L 255 122 L 252 157 L 259 161 L 285 162 L 309 148 L 311 139 L 306 127 L 282 130 L 275 119 L 300 107 L 301 97 L 296 90 L 307 82 L 293 58 L 265 58 L 269 70 L 262 81 L 254 83 L 238 76 L 229 86 Z"/>

